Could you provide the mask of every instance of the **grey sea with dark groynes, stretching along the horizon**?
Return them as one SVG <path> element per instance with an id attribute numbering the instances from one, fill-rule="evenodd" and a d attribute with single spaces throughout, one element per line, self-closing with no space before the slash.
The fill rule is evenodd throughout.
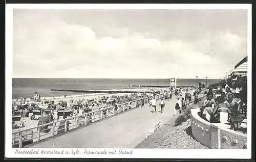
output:
<path id="1" fill-rule="evenodd" d="M 220 79 L 207 79 L 208 84 L 218 83 Z M 206 79 L 198 79 L 205 83 Z M 140 87 L 129 87 L 129 85 L 147 86 L 169 86 L 169 79 L 113 79 L 113 78 L 13 78 L 12 97 L 20 98 L 33 96 L 35 91 L 42 97 L 76 95 L 76 92 L 50 91 L 50 89 L 72 89 L 72 90 L 118 90 L 118 89 L 140 89 Z M 194 86 L 195 79 L 177 78 L 177 86 Z M 141 87 L 142 88 L 142 87 Z"/>

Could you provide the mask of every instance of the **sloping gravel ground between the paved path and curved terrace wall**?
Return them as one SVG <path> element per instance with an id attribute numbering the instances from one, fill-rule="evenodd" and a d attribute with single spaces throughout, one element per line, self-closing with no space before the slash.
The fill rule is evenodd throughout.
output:
<path id="1" fill-rule="evenodd" d="M 203 100 L 199 102 L 199 105 L 201 105 L 202 102 Z M 199 105 L 193 104 L 188 109 L 183 110 L 183 112 L 188 112 L 189 114 L 190 109 L 198 107 Z M 178 126 L 172 127 L 170 123 L 162 125 L 159 130 L 142 141 L 135 148 L 208 149 L 208 147 L 203 146 L 191 136 L 191 119 L 189 115 L 187 118 L 186 122 Z"/>

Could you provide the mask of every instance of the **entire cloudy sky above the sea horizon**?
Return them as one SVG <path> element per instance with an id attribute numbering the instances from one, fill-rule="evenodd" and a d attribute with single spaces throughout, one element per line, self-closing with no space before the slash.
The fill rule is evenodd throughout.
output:
<path id="1" fill-rule="evenodd" d="M 14 9 L 13 77 L 224 78 L 247 10 Z"/>

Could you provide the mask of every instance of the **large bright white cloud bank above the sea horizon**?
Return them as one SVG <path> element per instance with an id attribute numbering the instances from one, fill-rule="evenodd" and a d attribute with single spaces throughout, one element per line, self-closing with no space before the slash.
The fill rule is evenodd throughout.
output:
<path id="1" fill-rule="evenodd" d="M 217 78 L 246 55 L 246 44 L 229 31 L 162 40 L 148 31 L 104 25 L 96 32 L 54 16 L 16 15 L 13 77 Z"/>

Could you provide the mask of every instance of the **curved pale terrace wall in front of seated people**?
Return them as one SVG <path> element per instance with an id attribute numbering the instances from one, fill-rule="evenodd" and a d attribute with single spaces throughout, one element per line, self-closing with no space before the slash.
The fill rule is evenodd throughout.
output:
<path id="1" fill-rule="evenodd" d="M 202 119 L 198 112 L 200 109 L 191 110 L 192 136 L 202 145 L 209 148 L 242 149 L 246 148 L 247 136 L 222 123 L 209 123 Z"/>

